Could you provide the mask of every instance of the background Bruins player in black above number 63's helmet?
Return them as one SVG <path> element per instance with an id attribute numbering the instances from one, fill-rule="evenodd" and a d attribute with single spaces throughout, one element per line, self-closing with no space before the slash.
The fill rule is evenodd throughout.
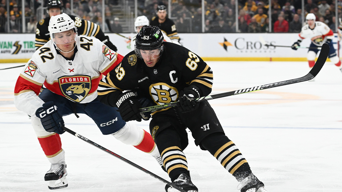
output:
<path id="1" fill-rule="evenodd" d="M 180 42 L 180 38 L 177 33 L 176 25 L 172 20 L 166 17 L 167 11 L 165 5 L 158 5 L 157 16 L 152 17 L 150 25 L 158 26 L 172 41 Z"/>

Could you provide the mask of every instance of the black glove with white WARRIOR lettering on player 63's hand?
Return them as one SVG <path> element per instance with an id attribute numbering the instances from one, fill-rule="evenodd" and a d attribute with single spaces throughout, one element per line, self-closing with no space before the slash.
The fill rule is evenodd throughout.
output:
<path id="1" fill-rule="evenodd" d="M 142 116 L 139 112 L 141 104 L 134 93 L 131 91 L 124 92 L 118 98 L 116 106 L 119 108 L 121 118 L 126 122 L 132 120 L 141 121 Z"/>

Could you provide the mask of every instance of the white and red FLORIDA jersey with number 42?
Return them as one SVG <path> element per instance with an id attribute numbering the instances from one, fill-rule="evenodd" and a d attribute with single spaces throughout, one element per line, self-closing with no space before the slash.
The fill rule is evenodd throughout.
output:
<path id="1" fill-rule="evenodd" d="M 107 75 L 123 56 L 93 37 L 78 37 L 74 59 L 57 52 L 52 40 L 39 48 L 20 73 L 14 89 L 18 110 L 35 114 L 43 101 L 38 97 L 42 85 L 52 92 L 78 102 L 97 97 L 102 75 Z"/>

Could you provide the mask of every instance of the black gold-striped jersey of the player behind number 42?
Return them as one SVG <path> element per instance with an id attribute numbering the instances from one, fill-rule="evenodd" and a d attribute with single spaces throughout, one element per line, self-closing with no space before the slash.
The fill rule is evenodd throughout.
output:
<path id="1" fill-rule="evenodd" d="M 100 29 L 100 26 L 97 24 L 82 20 L 79 17 L 74 15 L 69 15 L 72 20 L 75 22 L 75 26 L 77 27 L 78 35 L 85 35 L 85 36 L 93 36 L 99 39 L 100 41 L 104 41 L 106 39 L 104 33 Z M 49 21 L 50 17 L 46 17 L 40 20 L 37 23 L 37 31 L 36 31 L 36 50 L 43 46 L 50 40 L 50 33 L 49 33 Z M 103 42 L 105 43 L 105 42 Z"/>

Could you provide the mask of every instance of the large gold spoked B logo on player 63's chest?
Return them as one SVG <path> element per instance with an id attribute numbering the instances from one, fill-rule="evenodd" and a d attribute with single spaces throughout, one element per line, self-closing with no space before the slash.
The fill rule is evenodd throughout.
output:
<path id="1" fill-rule="evenodd" d="M 178 90 L 166 83 L 156 83 L 149 87 L 150 95 L 158 105 L 175 102 L 178 98 Z"/>

